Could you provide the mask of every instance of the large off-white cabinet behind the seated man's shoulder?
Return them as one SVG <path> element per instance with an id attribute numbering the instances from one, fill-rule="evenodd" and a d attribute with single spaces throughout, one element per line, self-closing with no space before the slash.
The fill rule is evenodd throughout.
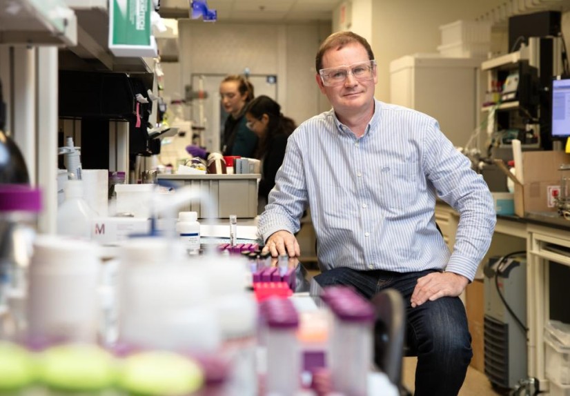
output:
<path id="1" fill-rule="evenodd" d="M 434 117 L 455 146 L 479 125 L 480 59 L 415 54 L 390 63 L 390 102 Z"/>

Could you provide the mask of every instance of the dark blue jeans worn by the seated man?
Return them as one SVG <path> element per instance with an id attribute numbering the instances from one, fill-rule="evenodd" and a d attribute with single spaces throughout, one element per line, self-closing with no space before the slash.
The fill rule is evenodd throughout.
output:
<path id="1" fill-rule="evenodd" d="M 415 396 L 458 395 L 473 357 L 465 308 L 459 297 L 442 297 L 411 307 L 417 279 L 434 271 L 394 273 L 334 268 L 315 277 L 322 287 L 353 286 L 367 299 L 385 288 L 402 293 L 407 315 L 406 344 L 417 352 Z"/>

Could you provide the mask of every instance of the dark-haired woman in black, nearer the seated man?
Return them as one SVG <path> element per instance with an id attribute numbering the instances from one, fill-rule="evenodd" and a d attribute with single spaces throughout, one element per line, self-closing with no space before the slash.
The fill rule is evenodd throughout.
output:
<path id="1" fill-rule="evenodd" d="M 265 95 L 250 101 L 245 109 L 250 130 L 259 137 L 255 158 L 262 161 L 259 198 L 265 199 L 275 186 L 275 175 L 285 157 L 287 139 L 297 128 L 295 121 L 282 115 L 279 103 Z"/>

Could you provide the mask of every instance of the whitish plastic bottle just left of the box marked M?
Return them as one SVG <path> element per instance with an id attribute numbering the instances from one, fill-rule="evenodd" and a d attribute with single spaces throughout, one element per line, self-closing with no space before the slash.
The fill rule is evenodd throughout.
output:
<path id="1" fill-rule="evenodd" d="M 95 210 L 83 199 L 83 181 L 68 180 L 65 195 L 65 201 L 57 210 L 57 233 L 91 239 L 91 223 Z"/>

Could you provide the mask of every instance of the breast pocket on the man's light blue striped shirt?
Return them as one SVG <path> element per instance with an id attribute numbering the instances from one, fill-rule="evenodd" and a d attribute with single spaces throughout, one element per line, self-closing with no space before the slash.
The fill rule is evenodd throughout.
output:
<path id="1" fill-rule="evenodd" d="M 386 164 L 380 168 L 380 201 L 384 208 L 404 209 L 411 206 L 420 190 L 417 162 Z"/>

